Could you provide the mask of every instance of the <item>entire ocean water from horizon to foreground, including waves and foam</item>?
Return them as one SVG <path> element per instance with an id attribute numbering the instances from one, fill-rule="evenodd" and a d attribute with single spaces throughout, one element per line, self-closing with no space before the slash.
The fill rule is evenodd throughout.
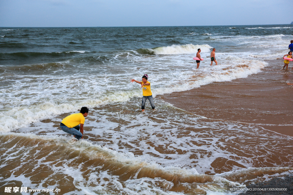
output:
<path id="1" fill-rule="evenodd" d="M 292 137 L 159 98 L 260 73 L 265 60 L 288 53 L 292 32 L 292 25 L 1 27 L 0 190 L 231 194 L 229 187 L 292 174 Z M 198 48 L 204 61 L 196 69 Z M 142 113 L 142 90 L 130 80 L 145 73 L 156 110 L 147 102 Z M 84 139 L 74 141 L 59 123 L 82 106 L 90 108 Z"/>

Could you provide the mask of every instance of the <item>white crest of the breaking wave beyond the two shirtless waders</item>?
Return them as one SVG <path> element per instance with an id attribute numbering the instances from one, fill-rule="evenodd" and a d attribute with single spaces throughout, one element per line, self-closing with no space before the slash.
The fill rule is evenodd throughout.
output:
<path id="1" fill-rule="evenodd" d="M 186 45 L 172 45 L 167 47 L 157 47 L 155 49 L 149 49 L 150 51 L 154 52 L 156 55 L 178 55 L 178 54 L 196 54 L 197 49 L 201 49 L 201 51 L 209 52 L 212 47 L 205 44 L 205 45 L 193 45 L 193 44 L 186 44 Z"/>

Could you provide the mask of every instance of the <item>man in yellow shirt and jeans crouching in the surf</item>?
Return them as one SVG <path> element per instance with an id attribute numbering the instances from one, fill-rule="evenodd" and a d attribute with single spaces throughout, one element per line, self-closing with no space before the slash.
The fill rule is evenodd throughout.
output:
<path id="1" fill-rule="evenodd" d="M 73 135 L 76 139 L 83 139 L 84 121 L 88 115 L 88 108 L 82 107 L 80 113 L 71 114 L 65 117 L 60 123 L 62 131 Z"/>

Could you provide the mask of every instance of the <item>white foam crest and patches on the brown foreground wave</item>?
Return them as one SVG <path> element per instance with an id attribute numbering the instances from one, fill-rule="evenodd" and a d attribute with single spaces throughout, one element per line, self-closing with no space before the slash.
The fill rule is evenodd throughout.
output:
<path id="1" fill-rule="evenodd" d="M 61 148 L 68 148 L 70 150 L 73 151 L 80 151 L 83 153 L 83 155 L 88 156 L 89 158 L 93 159 L 93 158 L 102 158 L 104 161 L 109 161 L 111 163 L 114 164 L 122 164 L 122 165 L 127 165 L 127 167 L 129 167 L 129 170 L 132 169 L 132 167 L 138 166 L 140 168 L 149 168 L 152 169 L 154 171 L 157 170 L 161 170 L 163 172 L 166 173 L 170 173 L 170 174 L 174 174 L 174 175 L 181 175 L 181 176 L 187 176 L 187 177 L 192 177 L 192 176 L 196 176 L 199 175 L 197 173 L 197 171 L 192 168 L 192 169 L 186 169 L 186 168 L 179 168 L 177 166 L 169 166 L 169 167 L 163 167 L 158 163 L 152 162 L 147 160 L 147 158 L 145 158 L 145 156 L 134 156 L 132 153 L 121 153 L 121 152 L 117 152 L 114 150 L 111 150 L 107 147 L 102 147 L 96 144 L 93 144 L 89 141 L 85 141 L 85 140 L 79 140 L 77 142 L 72 143 L 71 138 L 68 137 L 63 137 L 63 136 L 37 136 L 35 134 L 23 134 L 23 133 L 10 133 L 10 134 L 2 134 L 1 136 L 16 136 L 18 137 L 18 139 L 21 139 L 22 137 L 25 139 L 31 139 L 31 140 L 40 140 L 40 142 L 43 141 L 49 141 L 49 142 L 44 142 L 46 143 L 46 146 L 50 145 L 54 145 L 54 146 L 60 146 L 60 151 L 56 151 L 57 153 L 62 152 L 64 149 Z M 43 140 L 43 141 L 41 141 Z M 18 142 L 18 144 L 21 144 L 21 142 Z M 40 143 L 41 145 L 42 143 Z M 21 146 L 21 145 L 20 145 Z M 37 145 L 33 145 L 33 146 L 26 146 L 26 147 L 22 147 L 21 152 L 23 152 L 23 150 L 25 150 L 25 152 L 29 153 L 29 151 L 35 151 L 35 149 L 38 149 L 38 151 L 41 151 L 42 149 L 38 148 L 38 144 Z M 4 154 L 2 154 L 2 156 L 5 156 L 5 161 L 3 161 L 0 165 L 0 168 L 3 166 L 7 166 L 8 163 L 10 163 L 11 159 L 15 158 L 15 156 L 18 156 L 18 152 L 19 150 L 16 151 L 11 151 L 8 150 L 6 151 Z M 50 154 L 53 154 L 54 151 L 52 151 Z M 38 153 L 35 153 L 36 156 L 38 156 Z M 54 154 L 53 154 L 54 155 Z M 50 156 L 50 155 L 49 155 Z M 22 166 L 25 166 L 26 164 L 30 163 L 29 159 L 25 159 L 27 156 L 24 155 L 23 158 L 21 159 L 22 164 L 17 167 L 16 169 L 22 169 Z M 110 183 L 120 183 L 119 177 L 112 175 L 109 173 L 110 170 L 104 171 L 103 167 L 101 166 L 99 169 L 97 169 L 96 167 L 91 167 L 88 166 L 86 167 L 86 169 L 83 170 L 84 168 L 84 163 L 81 163 L 79 166 L 75 166 L 76 163 L 72 162 L 72 160 L 74 160 L 74 158 L 71 157 L 71 159 L 67 159 L 68 161 L 60 161 L 58 164 L 55 163 L 50 163 L 50 161 L 48 162 L 46 159 L 46 157 L 40 158 L 38 160 L 38 164 L 37 166 L 32 170 L 32 172 L 34 172 L 38 167 L 42 166 L 45 168 L 49 168 L 49 170 L 53 171 L 54 174 L 61 174 L 64 175 L 63 177 L 70 177 L 74 179 L 74 185 L 77 189 L 82 189 L 82 192 L 84 193 L 84 191 L 88 191 L 88 192 L 92 192 L 97 191 L 97 190 L 110 190 L 109 188 L 112 185 L 108 185 L 109 183 L 107 182 L 107 185 L 105 185 L 104 188 L 92 188 L 92 187 L 88 187 L 88 186 L 92 186 L 91 184 L 97 183 L 98 185 L 94 185 L 94 186 L 103 186 L 103 178 L 108 178 L 108 180 L 104 180 L 104 181 L 109 181 Z M 34 158 L 31 158 L 31 161 L 34 161 Z M 62 164 L 62 165 L 61 165 Z M 84 174 L 84 171 L 87 171 L 88 174 Z M 139 172 L 138 172 L 139 173 Z M 86 179 L 84 177 L 84 175 L 87 175 L 86 177 L 88 179 Z M 205 176 L 205 175 L 202 175 Z M 192 184 L 188 184 L 186 183 L 185 185 L 193 187 L 195 189 L 203 189 L 204 191 L 208 191 L 208 193 L 214 193 L 214 194 L 218 194 L 217 191 L 222 191 L 223 189 L 225 189 L 225 186 L 229 185 L 229 186 L 234 186 L 234 187 L 239 187 L 239 186 L 243 186 L 237 182 L 231 182 L 223 177 L 219 177 L 219 176 L 208 176 L 206 175 L 206 177 L 211 177 L 212 180 L 214 180 L 214 182 L 217 182 L 218 185 L 220 185 L 219 188 L 215 188 L 215 187 L 207 187 L 205 186 L 205 183 L 203 184 L 198 184 L 198 186 L 193 186 Z M 25 186 L 30 187 L 30 188 L 37 188 L 40 187 L 42 185 L 41 184 L 35 184 L 35 182 L 33 182 L 30 177 L 24 177 L 23 175 L 17 176 L 17 175 L 11 175 L 10 177 L 6 178 L 5 181 L 11 181 L 11 180 L 16 180 L 16 181 L 23 181 L 23 184 L 25 184 Z M 43 178 L 43 181 L 46 182 L 50 180 L 50 175 L 47 178 Z M 100 181 L 99 181 L 100 180 Z M 99 181 L 99 182 L 98 182 Z M 151 186 L 148 185 L 148 183 L 151 182 L 153 183 Z M 156 182 L 163 182 L 166 183 L 167 188 L 165 187 L 162 188 L 159 186 L 157 186 L 157 184 L 155 184 Z M 141 190 L 144 189 L 144 193 L 149 192 L 148 194 L 157 194 L 157 192 L 160 193 L 167 193 L 167 194 L 178 194 L 176 192 L 172 192 L 172 191 L 168 191 L 169 188 L 168 186 L 172 187 L 173 183 L 172 182 L 168 182 L 167 180 L 164 180 L 162 178 L 148 178 L 148 177 L 143 177 L 141 179 L 137 179 L 137 175 L 134 176 L 133 178 L 130 178 L 129 180 L 124 182 L 126 185 L 126 189 L 125 187 L 122 187 L 122 185 L 119 187 L 119 191 L 127 191 L 128 192 L 135 192 L 137 190 Z M 208 183 L 207 183 L 208 184 Z M 53 185 L 50 186 L 51 188 L 56 188 L 57 185 Z M 136 187 L 135 187 L 136 186 Z M 137 188 L 138 187 L 138 188 Z M 114 187 L 114 189 L 116 189 L 116 187 Z M 113 190 L 113 188 L 112 188 Z M 79 193 L 77 193 L 79 194 Z M 181 193 L 179 193 L 181 194 Z M 221 193 L 220 193 L 221 194 Z"/>

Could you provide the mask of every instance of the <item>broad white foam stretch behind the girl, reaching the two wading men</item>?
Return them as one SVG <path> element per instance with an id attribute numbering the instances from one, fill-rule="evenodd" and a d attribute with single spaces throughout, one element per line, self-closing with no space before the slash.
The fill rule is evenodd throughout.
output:
<path id="1" fill-rule="evenodd" d="M 181 49 L 180 46 L 175 46 L 175 50 L 180 50 L 178 47 Z M 208 45 L 206 47 L 201 45 L 200 47 L 203 51 L 211 48 Z M 197 47 L 191 45 L 187 48 L 187 51 L 190 51 Z M 166 50 L 170 51 L 171 49 L 169 50 L 167 47 L 163 49 L 163 51 Z M 208 54 L 202 54 L 202 56 L 205 55 Z M 217 53 L 217 57 L 223 65 L 214 67 L 213 71 L 202 68 L 194 72 L 192 68 L 194 67 L 194 60 L 191 56 L 174 55 L 173 57 L 141 58 L 127 55 L 130 61 L 137 58 L 135 61 L 139 60 L 141 63 L 148 65 L 147 71 L 142 70 L 140 72 L 146 72 L 150 75 L 149 81 L 152 83 L 154 97 L 158 94 L 193 89 L 211 82 L 231 81 L 236 78 L 247 77 L 250 74 L 258 73 L 266 65 L 261 61 L 235 57 L 227 58 L 226 55 L 220 53 Z M 120 63 L 119 58 L 117 57 L 115 63 Z M 124 57 L 122 59 L 125 60 Z M 231 63 L 231 60 L 233 60 L 233 63 Z M 157 72 L 156 61 L 160 62 L 159 70 L 164 71 L 164 74 Z M 202 65 L 204 64 L 205 61 L 202 62 Z M 242 65 L 247 65 L 247 67 L 241 67 Z M 223 70 L 227 67 L 231 68 Z M 115 72 L 117 64 L 109 68 Z M 0 132 L 8 132 L 28 126 L 32 122 L 38 122 L 65 112 L 76 111 L 82 106 L 93 108 L 108 103 L 128 101 L 131 97 L 141 96 L 142 92 L 139 85 L 130 83 L 131 78 L 139 79 L 141 77 L 137 73 L 137 69 L 132 69 L 129 64 L 127 64 L 127 67 L 120 64 L 119 68 L 123 68 L 128 73 L 117 75 L 119 73 L 117 72 L 114 75 L 105 75 L 104 73 L 97 74 L 95 71 L 99 70 L 91 69 L 91 76 L 86 76 L 86 80 L 79 79 L 79 75 L 88 75 L 87 70 L 84 73 L 79 72 L 79 70 L 76 70 L 76 73 L 71 71 L 72 75 L 61 78 L 59 76 L 34 75 L 16 76 L 12 79 L 9 76 L 14 84 L 0 89 L 0 94 L 3 97 L 1 99 L 3 107 L 0 113 Z M 63 71 L 69 70 L 64 69 Z M 117 82 L 117 77 L 120 77 L 120 82 Z M 5 77 L 5 79 L 8 78 Z"/>

